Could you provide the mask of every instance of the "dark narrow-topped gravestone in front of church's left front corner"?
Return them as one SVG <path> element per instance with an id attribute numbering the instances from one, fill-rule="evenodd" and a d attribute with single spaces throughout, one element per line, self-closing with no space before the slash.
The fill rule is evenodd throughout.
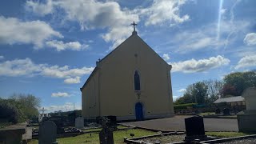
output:
<path id="1" fill-rule="evenodd" d="M 113 130 L 108 126 L 108 119 L 102 118 L 102 130 L 99 133 L 101 144 L 114 144 Z"/>

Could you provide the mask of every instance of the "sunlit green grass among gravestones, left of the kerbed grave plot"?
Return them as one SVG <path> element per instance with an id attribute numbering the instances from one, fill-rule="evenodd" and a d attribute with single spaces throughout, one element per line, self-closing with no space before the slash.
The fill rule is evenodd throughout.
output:
<path id="1" fill-rule="evenodd" d="M 91 137 L 90 137 L 91 134 Z M 69 137 L 69 138 L 58 138 L 57 141 L 59 144 L 70 144 L 70 143 L 91 143 L 91 144 L 98 144 L 99 137 L 98 133 L 90 133 L 90 134 L 82 134 L 76 137 Z M 134 134 L 134 137 L 141 137 L 146 135 L 157 134 L 156 132 L 149 131 L 149 130 L 141 130 L 141 129 L 131 129 L 131 130 L 118 130 L 114 131 L 114 143 L 123 143 L 123 138 L 131 138 L 130 134 Z M 38 140 L 32 140 L 28 142 L 29 144 L 37 144 Z"/>

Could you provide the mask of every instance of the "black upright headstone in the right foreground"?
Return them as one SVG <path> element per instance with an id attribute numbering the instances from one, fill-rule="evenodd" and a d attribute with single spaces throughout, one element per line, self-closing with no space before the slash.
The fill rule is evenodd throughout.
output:
<path id="1" fill-rule="evenodd" d="M 185 118 L 186 137 L 185 141 L 190 142 L 194 139 L 206 138 L 203 118 L 194 116 Z"/>

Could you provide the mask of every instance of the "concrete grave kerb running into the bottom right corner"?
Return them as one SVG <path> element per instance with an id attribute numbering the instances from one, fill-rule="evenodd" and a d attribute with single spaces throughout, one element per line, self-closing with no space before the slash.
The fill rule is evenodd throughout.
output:
<path id="1" fill-rule="evenodd" d="M 256 138 L 256 134 L 251 134 L 251 135 L 246 135 L 241 137 L 233 137 L 233 138 L 219 138 L 219 139 L 214 139 L 209 141 L 202 141 L 200 143 L 206 144 L 206 143 L 215 143 L 215 142 L 230 142 L 234 140 L 241 140 L 241 139 L 247 139 L 247 138 Z"/>

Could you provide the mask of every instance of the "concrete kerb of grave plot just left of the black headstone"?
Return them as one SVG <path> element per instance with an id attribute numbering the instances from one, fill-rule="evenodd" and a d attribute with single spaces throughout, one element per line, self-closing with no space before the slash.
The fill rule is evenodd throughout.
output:
<path id="1" fill-rule="evenodd" d="M 144 139 L 144 138 L 154 138 L 154 137 L 160 137 L 160 136 L 166 136 L 166 135 L 180 135 L 180 134 L 185 134 L 185 132 L 169 132 L 169 133 L 142 136 L 142 137 L 137 137 L 137 138 L 124 138 L 124 142 L 126 142 L 126 143 L 142 143 L 139 140 Z M 147 142 L 144 142 L 144 143 L 147 144 Z"/>

